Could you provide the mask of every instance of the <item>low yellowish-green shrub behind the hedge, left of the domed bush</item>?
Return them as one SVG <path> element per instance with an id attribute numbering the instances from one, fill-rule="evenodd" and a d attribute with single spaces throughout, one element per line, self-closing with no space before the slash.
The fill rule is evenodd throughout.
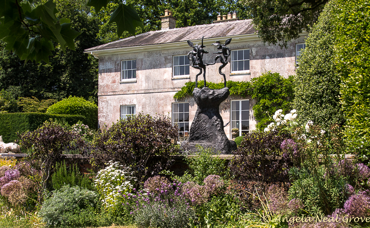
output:
<path id="1" fill-rule="evenodd" d="M 38 100 L 36 97 L 18 97 L 18 106 L 23 112 L 45 113 L 47 108 L 57 101 L 55 99 Z"/>

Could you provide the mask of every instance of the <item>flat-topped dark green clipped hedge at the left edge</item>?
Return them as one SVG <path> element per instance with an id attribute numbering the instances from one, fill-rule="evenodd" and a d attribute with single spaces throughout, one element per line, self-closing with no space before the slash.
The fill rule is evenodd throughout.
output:
<path id="1" fill-rule="evenodd" d="M 36 112 L 0 113 L 0 136 L 5 143 L 14 142 L 17 139 L 16 132 L 36 130 L 48 119 L 65 119 L 73 125 L 79 120 L 86 124 L 86 117 L 82 115 L 59 115 Z"/>

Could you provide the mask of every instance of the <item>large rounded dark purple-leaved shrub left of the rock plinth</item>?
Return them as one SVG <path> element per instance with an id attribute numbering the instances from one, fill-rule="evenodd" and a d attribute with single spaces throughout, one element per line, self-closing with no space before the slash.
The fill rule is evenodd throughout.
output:
<path id="1" fill-rule="evenodd" d="M 136 114 L 103 129 L 94 140 L 90 163 L 101 168 L 108 161 L 131 167 L 138 183 L 170 165 L 169 155 L 176 154 L 172 142 L 177 128 L 168 117 Z"/>

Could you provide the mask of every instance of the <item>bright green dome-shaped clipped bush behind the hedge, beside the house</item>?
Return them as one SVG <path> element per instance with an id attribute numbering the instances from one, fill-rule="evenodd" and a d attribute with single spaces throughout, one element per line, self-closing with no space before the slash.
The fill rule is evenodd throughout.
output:
<path id="1" fill-rule="evenodd" d="M 97 129 L 97 106 L 82 97 L 69 96 L 48 107 L 46 113 L 83 115 L 86 117 L 86 124 Z"/>

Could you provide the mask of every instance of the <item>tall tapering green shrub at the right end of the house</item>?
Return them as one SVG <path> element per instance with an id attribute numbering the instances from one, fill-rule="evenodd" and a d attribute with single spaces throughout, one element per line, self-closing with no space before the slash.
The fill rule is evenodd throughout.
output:
<path id="1" fill-rule="evenodd" d="M 339 100 L 340 78 L 333 56 L 335 51 L 335 10 L 339 4 L 330 1 L 306 39 L 306 48 L 299 57 L 294 80 L 294 105 L 299 122 L 308 120 L 325 128 L 343 124 Z"/>

